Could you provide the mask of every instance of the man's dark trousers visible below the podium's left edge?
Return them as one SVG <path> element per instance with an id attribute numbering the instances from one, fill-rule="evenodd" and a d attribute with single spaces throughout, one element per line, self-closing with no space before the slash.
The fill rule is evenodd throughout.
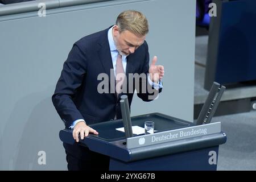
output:
<path id="1" fill-rule="evenodd" d="M 109 171 L 109 156 L 98 154 L 85 148 L 86 157 L 77 158 L 66 150 L 68 171 Z"/>

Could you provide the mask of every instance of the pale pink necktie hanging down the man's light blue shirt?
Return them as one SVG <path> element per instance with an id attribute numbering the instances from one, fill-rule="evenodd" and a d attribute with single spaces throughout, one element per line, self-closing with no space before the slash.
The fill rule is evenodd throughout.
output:
<path id="1" fill-rule="evenodd" d="M 122 84 L 125 79 L 125 71 L 123 71 L 122 56 L 117 56 L 117 67 L 115 69 L 115 91 L 118 94 L 122 92 Z"/>

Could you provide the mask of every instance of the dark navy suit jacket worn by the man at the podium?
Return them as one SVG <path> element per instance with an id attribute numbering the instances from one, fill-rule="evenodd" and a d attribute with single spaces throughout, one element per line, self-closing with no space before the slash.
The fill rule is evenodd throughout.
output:
<path id="1" fill-rule="evenodd" d="M 97 80 L 98 75 L 106 73 L 110 78 L 110 74 L 112 74 L 110 69 L 113 69 L 108 30 L 109 28 L 77 41 L 63 65 L 55 93 L 52 96 L 52 102 L 57 113 L 63 119 L 66 128 L 71 126 L 76 119 L 84 119 L 87 125 L 91 125 L 110 121 L 114 119 L 115 114 L 117 114 L 117 119 L 122 118 L 119 104 L 122 93 L 119 94 L 118 98 L 115 93 L 110 93 L 114 89 L 110 86 L 110 79 L 109 93 L 98 93 L 97 91 L 98 84 L 102 81 Z M 127 78 L 129 73 L 147 74 L 148 63 L 148 46 L 145 41 L 133 54 L 127 56 Z M 140 82 L 143 82 L 143 80 L 141 79 Z M 129 80 L 127 80 L 128 84 Z M 148 96 L 152 94 L 142 93 L 141 86 L 142 84 L 137 88 L 138 97 L 143 101 L 151 101 Z M 134 88 L 135 85 L 133 85 L 133 92 Z M 161 92 L 161 90 L 159 89 L 158 92 Z M 133 99 L 133 92 L 127 94 L 129 106 Z M 70 147 L 67 148 L 70 149 Z M 72 153 L 77 152 L 76 150 L 70 151 Z"/>

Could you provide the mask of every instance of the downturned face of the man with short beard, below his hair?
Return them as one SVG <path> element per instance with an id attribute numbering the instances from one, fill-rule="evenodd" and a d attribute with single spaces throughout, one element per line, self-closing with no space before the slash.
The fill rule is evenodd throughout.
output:
<path id="1" fill-rule="evenodd" d="M 139 37 L 128 30 L 120 33 L 118 26 L 114 26 L 113 39 L 119 53 L 128 56 L 130 53 L 134 53 L 134 51 L 144 43 L 146 35 Z"/>

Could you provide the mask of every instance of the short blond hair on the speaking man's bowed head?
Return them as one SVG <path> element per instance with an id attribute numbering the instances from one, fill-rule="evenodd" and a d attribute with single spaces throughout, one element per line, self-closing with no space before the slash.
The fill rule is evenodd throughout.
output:
<path id="1" fill-rule="evenodd" d="M 115 24 L 119 27 L 119 32 L 128 30 L 137 36 L 144 36 L 148 33 L 147 18 L 139 11 L 123 11 L 118 15 Z"/>

